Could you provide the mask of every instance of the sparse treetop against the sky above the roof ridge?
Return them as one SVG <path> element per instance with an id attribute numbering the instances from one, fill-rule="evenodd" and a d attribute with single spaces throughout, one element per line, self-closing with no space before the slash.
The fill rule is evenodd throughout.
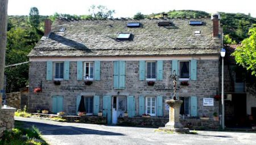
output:
<path id="1" fill-rule="evenodd" d="M 106 18 L 113 18 L 113 14 L 115 10 L 109 10 L 106 6 L 95 5 L 90 6 L 89 12 L 92 12 L 91 15 L 93 18 L 96 19 L 106 19 Z"/>

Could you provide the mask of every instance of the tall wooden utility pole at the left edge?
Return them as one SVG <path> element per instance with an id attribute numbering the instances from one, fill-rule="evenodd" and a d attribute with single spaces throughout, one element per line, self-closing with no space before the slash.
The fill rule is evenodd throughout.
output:
<path id="1" fill-rule="evenodd" d="M 2 96 L 5 93 L 3 89 L 5 74 L 5 49 L 7 33 L 7 4 L 8 0 L 0 0 L 0 109 L 2 108 Z"/>

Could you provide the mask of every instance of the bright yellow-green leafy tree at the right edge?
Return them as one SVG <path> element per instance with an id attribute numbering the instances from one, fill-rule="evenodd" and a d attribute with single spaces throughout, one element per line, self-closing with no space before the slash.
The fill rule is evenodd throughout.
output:
<path id="1" fill-rule="evenodd" d="M 242 65 L 248 71 L 251 71 L 251 75 L 256 76 L 256 25 L 249 30 L 247 39 L 242 41 L 242 45 L 239 46 L 232 54 L 235 57 L 238 65 Z"/>

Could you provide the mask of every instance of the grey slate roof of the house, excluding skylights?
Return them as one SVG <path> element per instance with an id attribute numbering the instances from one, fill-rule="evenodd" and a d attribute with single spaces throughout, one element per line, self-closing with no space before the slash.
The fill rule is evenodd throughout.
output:
<path id="1" fill-rule="evenodd" d="M 203 25 L 189 25 L 201 20 Z M 159 27 L 158 22 L 170 21 L 172 26 Z M 129 22 L 141 27 L 128 28 Z M 64 32 L 59 32 L 61 27 Z M 221 39 L 213 39 L 213 24 L 201 19 L 57 19 L 49 37 L 42 37 L 29 57 L 43 56 L 156 56 L 220 54 Z M 201 35 L 195 35 L 195 31 Z M 130 40 L 117 40 L 119 32 L 131 32 Z"/>

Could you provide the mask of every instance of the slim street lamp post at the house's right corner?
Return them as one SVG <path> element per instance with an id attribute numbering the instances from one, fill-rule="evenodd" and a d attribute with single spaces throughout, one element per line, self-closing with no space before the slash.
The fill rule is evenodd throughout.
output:
<path id="1" fill-rule="evenodd" d="M 221 69 L 221 127 L 222 130 L 225 129 L 225 110 L 224 110 L 224 57 L 226 54 L 226 50 L 224 48 L 221 49 L 221 57 L 222 57 L 222 69 Z"/>

